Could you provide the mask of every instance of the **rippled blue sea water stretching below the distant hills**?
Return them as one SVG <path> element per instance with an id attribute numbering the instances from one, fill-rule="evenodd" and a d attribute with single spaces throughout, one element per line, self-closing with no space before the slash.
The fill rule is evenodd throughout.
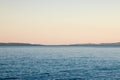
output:
<path id="1" fill-rule="evenodd" d="M 120 80 L 120 47 L 0 47 L 0 80 Z"/>

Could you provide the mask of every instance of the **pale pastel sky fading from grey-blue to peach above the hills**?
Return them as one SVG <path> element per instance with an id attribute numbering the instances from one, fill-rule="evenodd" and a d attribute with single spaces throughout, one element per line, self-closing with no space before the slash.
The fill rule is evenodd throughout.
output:
<path id="1" fill-rule="evenodd" d="M 120 41 L 120 0 L 0 0 L 0 42 Z"/>

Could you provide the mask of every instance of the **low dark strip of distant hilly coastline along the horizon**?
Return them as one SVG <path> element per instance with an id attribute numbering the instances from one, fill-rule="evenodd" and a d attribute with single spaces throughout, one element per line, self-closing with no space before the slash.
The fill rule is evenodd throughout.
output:
<path id="1" fill-rule="evenodd" d="M 118 46 L 120 42 L 116 43 L 88 43 L 88 44 L 68 44 L 68 45 L 43 45 L 43 44 L 31 44 L 31 43 L 0 43 L 0 46 Z"/>

